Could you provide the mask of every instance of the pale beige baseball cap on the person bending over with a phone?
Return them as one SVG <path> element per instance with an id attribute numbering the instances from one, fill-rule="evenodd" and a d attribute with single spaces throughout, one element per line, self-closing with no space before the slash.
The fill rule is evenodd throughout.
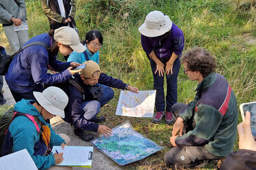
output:
<path id="1" fill-rule="evenodd" d="M 55 29 L 53 39 L 63 45 L 68 45 L 75 52 L 84 52 L 85 46 L 81 44 L 79 35 L 71 27 L 60 27 Z"/>

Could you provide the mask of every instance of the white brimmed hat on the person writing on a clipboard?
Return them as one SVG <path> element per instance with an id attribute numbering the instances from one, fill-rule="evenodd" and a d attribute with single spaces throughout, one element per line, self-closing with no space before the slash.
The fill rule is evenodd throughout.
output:
<path id="1" fill-rule="evenodd" d="M 50 86 L 43 92 L 33 92 L 33 95 L 49 113 L 65 118 L 64 109 L 68 104 L 68 96 L 61 88 Z"/>

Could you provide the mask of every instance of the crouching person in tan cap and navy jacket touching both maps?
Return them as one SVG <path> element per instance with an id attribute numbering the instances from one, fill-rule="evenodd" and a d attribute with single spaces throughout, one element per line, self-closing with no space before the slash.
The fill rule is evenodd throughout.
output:
<path id="1" fill-rule="evenodd" d="M 90 141 L 94 135 L 88 131 L 99 132 L 105 137 L 110 136 L 111 129 L 96 123 L 106 120 L 103 116 L 98 116 L 100 107 L 108 103 L 114 96 L 114 91 L 110 88 L 119 88 L 139 92 L 137 87 L 125 84 L 122 80 L 112 78 L 109 75 L 100 73 L 100 66 L 94 61 L 85 61 L 85 69 L 74 75 L 74 81 L 83 88 L 83 92 L 73 84 L 66 82 L 61 88 L 69 97 L 68 105 L 65 108 L 66 122 L 74 126 L 74 134 L 84 141 Z"/>

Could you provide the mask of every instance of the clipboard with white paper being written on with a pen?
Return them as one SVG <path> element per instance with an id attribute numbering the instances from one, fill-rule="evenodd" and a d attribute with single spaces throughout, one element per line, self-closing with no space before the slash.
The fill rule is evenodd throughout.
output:
<path id="1" fill-rule="evenodd" d="M 63 152 L 63 162 L 57 166 L 66 167 L 91 167 L 94 147 L 91 146 L 65 146 L 62 150 L 61 146 L 53 146 L 53 154 L 55 150 Z"/>

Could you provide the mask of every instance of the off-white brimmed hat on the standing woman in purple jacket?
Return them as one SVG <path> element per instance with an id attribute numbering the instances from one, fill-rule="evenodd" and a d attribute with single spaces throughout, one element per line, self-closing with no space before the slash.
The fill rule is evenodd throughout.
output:
<path id="1" fill-rule="evenodd" d="M 173 22 L 169 16 L 160 11 L 147 14 L 145 22 L 139 27 L 139 32 L 146 37 L 158 37 L 171 30 Z"/>

